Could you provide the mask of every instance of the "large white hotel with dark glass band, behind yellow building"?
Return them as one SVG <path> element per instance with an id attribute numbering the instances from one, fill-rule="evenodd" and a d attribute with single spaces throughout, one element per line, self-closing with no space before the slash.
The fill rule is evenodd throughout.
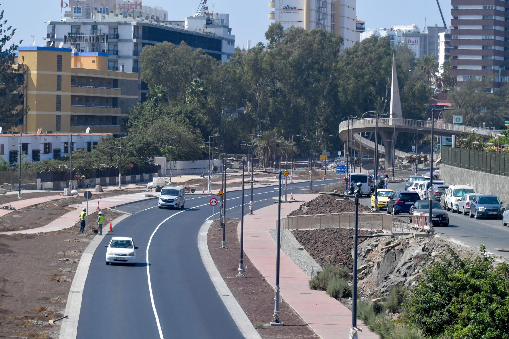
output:
<path id="1" fill-rule="evenodd" d="M 140 4 L 136 0 L 62 1 L 65 17 L 46 22 L 46 46 L 63 43 L 77 52 L 108 53 L 109 70 L 138 73 L 142 48 L 164 41 L 176 45 L 184 41 L 221 61 L 233 55 L 235 36 L 229 14 L 206 13 L 171 21 L 162 8 Z M 144 101 L 147 86 L 140 83 L 139 88 L 138 100 Z"/>

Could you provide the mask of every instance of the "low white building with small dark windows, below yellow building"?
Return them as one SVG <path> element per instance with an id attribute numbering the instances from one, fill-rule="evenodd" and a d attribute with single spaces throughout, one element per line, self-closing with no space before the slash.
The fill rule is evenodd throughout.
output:
<path id="1" fill-rule="evenodd" d="M 24 133 L 0 134 L 0 156 L 5 161 L 16 164 L 19 162 L 19 145 L 22 145 L 22 152 L 29 162 L 43 161 L 47 159 L 59 159 L 69 155 L 71 147 L 74 150 L 84 149 L 91 151 L 92 147 L 99 144 L 101 138 L 111 135 L 109 133 L 76 133 L 72 135 L 65 133 Z"/>

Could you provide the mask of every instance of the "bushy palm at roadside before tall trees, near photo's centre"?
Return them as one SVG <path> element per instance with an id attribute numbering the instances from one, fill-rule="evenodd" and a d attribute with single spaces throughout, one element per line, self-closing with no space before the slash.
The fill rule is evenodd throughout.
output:
<path id="1" fill-rule="evenodd" d="M 260 137 L 254 139 L 254 155 L 265 158 L 264 166 L 273 157 L 274 153 L 277 156 L 289 157 L 292 152 L 297 151 L 295 143 L 292 145 L 291 141 L 277 135 L 275 130 L 261 132 Z"/>

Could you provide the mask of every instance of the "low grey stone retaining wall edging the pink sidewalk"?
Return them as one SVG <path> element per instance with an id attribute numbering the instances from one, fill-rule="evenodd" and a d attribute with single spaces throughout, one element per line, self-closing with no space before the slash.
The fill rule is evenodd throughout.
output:
<path id="1" fill-rule="evenodd" d="M 270 230 L 274 242 L 277 241 L 277 230 Z M 322 267 L 307 253 L 295 239 L 291 231 L 281 230 L 281 251 L 292 260 L 309 278 L 313 278 Z"/>

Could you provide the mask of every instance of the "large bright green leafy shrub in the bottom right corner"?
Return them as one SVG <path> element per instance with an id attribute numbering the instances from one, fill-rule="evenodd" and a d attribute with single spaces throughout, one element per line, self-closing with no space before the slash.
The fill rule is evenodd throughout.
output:
<path id="1" fill-rule="evenodd" d="M 485 247 L 474 259 L 451 258 L 429 263 L 412 289 L 408 320 L 423 333 L 460 338 L 509 338 L 509 265 L 493 266 Z"/>

